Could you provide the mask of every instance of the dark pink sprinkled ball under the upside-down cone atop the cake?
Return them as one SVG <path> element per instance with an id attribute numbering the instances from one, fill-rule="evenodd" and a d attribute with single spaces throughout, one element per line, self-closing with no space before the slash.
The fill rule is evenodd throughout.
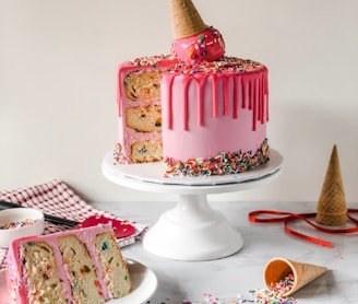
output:
<path id="1" fill-rule="evenodd" d="M 181 60 L 214 61 L 225 54 L 222 34 L 214 27 L 207 27 L 194 36 L 172 42 L 171 54 Z"/>

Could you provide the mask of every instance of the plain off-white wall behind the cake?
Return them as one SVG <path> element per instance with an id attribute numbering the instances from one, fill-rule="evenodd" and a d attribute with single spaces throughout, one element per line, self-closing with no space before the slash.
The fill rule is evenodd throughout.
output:
<path id="1" fill-rule="evenodd" d="M 212 200 L 317 201 L 333 144 L 358 200 L 358 1 L 195 0 L 226 54 L 270 70 L 279 178 Z M 0 190 L 59 178 L 90 201 L 171 200 L 102 174 L 116 142 L 117 66 L 167 54 L 166 0 L 0 0 Z"/>

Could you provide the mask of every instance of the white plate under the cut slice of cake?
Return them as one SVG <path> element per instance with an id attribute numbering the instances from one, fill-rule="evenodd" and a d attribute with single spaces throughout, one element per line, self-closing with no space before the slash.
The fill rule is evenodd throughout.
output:
<path id="1" fill-rule="evenodd" d="M 146 303 L 157 289 L 158 281 L 151 269 L 132 259 L 127 259 L 127 266 L 132 279 L 132 292 L 121 299 L 108 301 L 108 304 Z M 12 303 L 7 290 L 5 271 L 0 271 L 0 303 Z"/>

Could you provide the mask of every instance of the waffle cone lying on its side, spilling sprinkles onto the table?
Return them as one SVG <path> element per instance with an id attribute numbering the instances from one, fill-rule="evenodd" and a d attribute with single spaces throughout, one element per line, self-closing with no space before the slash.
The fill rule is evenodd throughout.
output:
<path id="1" fill-rule="evenodd" d="M 285 258 L 274 258 L 265 266 L 264 283 L 267 289 L 271 289 L 272 285 L 284 280 L 289 273 L 293 273 L 293 284 L 282 294 L 283 296 L 289 296 L 327 270 L 329 269 L 323 266 L 299 262 Z"/>

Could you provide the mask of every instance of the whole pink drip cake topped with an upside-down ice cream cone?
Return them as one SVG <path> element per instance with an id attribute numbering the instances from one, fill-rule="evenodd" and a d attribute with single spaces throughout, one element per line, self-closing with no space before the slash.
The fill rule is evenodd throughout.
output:
<path id="1" fill-rule="evenodd" d="M 267 68 L 225 55 L 222 34 L 190 0 L 170 0 L 166 56 L 118 72 L 116 162 L 163 161 L 164 176 L 237 174 L 268 161 Z"/>

